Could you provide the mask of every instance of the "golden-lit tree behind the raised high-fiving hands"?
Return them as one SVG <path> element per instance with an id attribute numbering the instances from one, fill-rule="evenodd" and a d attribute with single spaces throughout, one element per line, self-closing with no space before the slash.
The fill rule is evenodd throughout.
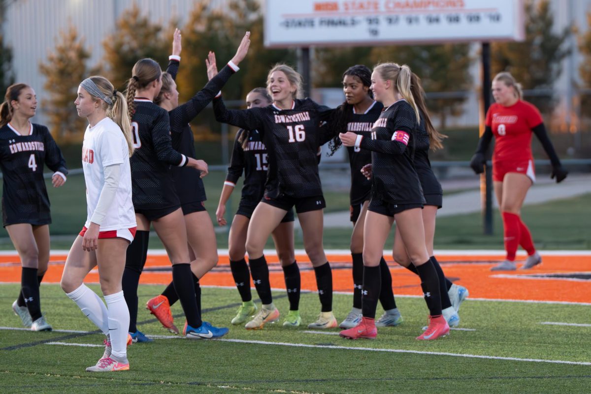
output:
<path id="1" fill-rule="evenodd" d="M 240 72 L 223 88 L 226 100 L 243 100 L 257 86 L 266 86 L 269 68 L 280 61 L 294 64 L 294 51 L 269 50 L 264 48 L 262 37 L 263 16 L 256 0 L 229 0 L 222 9 L 207 0 L 194 3 L 183 32 L 183 53 L 177 76 L 180 92 L 179 102 L 186 102 L 207 83 L 205 58 L 210 50 L 215 51 L 217 66 L 221 69 L 236 53 L 236 48 L 246 31 L 251 32 L 248 55 L 240 64 Z M 172 40 L 172 34 L 167 42 Z M 169 44 L 170 45 L 170 44 Z M 204 110 L 193 122 L 196 139 L 212 138 L 209 134 L 219 130 L 213 113 Z"/>

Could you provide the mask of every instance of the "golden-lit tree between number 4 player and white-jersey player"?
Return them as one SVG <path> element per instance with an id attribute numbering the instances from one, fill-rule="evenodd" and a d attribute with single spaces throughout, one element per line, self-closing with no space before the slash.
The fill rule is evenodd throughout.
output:
<path id="1" fill-rule="evenodd" d="M 43 87 L 50 97 L 44 99 L 41 106 L 47 113 L 51 134 L 56 141 L 79 141 L 87 122 L 77 116 L 74 100 L 80 82 L 89 75 L 86 60 L 90 53 L 72 25 L 67 31 L 60 31 L 57 41 L 54 52 L 39 66 L 46 77 Z"/>

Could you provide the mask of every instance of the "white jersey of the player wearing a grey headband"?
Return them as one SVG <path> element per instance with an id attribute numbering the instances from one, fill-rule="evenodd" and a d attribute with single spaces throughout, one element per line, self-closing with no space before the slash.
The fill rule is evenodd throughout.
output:
<path id="1" fill-rule="evenodd" d="M 105 185 L 104 168 L 113 164 L 121 165 L 121 180 L 115 200 L 113 200 L 105 219 L 100 223 L 101 232 L 136 226 L 134 205 L 131 200 L 131 168 L 129 167 L 127 141 L 125 141 L 125 136 L 117 123 L 105 118 L 93 128 L 90 128 L 89 125 L 84 133 L 82 168 L 86 181 L 88 215 L 86 227 L 90 227 L 90 218 L 95 212 L 100 192 Z"/>

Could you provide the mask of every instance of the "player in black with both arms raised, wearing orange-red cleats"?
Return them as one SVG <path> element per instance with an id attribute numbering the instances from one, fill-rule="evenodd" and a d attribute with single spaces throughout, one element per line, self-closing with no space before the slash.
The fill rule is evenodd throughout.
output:
<path id="1" fill-rule="evenodd" d="M 178 90 L 175 78 L 178 73 L 181 53 L 181 34 L 174 32 L 173 54 L 170 56 L 167 72 L 163 74 L 163 86 L 154 102 L 168 110 L 173 148 L 189 157 L 195 157 L 193 131 L 189 122 L 192 121 L 219 92 L 235 71 L 230 64 L 224 67 L 212 81 L 196 93 L 189 102 L 178 105 Z M 199 173 L 183 167 L 171 167 L 175 187 L 183 210 L 189 240 L 189 255 L 197 308 L 201 310 L 201 287 L 199 279 L 217 264 L 216 235 L 212 220 L 205 210 L 205 188 Z M 165 328 L 178 334 L 174 325 L 170 305 L 178 300 L 178 295 L 171 282 L 161 295 L 150 299 L 146 308 L 158 318 Z"/>

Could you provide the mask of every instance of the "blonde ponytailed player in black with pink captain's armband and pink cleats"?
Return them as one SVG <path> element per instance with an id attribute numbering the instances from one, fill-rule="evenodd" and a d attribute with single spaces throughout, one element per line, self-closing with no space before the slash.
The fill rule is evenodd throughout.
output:
<path id="1" fill-rule="evenodd" d="M 420 113 L 411 90 L 411 70 L 395 63 L 379 64 L 372 73 L 371 89 L 384 111 L 374 123 L 371 135 L 340 133 L 345 146 L 372 151 L 372 191 L 363 235 L 363 318 L 356 327 L 340 332 L 346 338 L 375 338 L 375 309 L 380 291 L 379 260 L 394 219 L 417 267 L 424 298 L 430 311 L 427 330 L 417 337 L 433 340 L 449 333 L 441 315 L 439 278 L 425 245 L 421 209 L 425 204 L 413 155 L 416 149 Z M 420 103 L 419 103 L 420 104 Z M 421 262 L 421 263 L 419 263 Z"/>

